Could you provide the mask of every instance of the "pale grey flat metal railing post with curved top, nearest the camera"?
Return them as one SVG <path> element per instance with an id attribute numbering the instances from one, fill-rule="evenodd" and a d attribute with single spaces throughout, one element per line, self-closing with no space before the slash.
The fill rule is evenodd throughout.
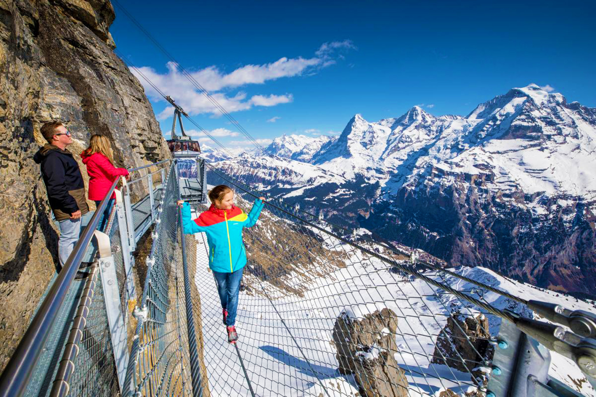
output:
<path id="1" fill-rule="evenodd" d="M 118 384 L 120 392 L 124 387 L 126 368 L 128 367 L 128 346 L 126 323 L 128 320 L 128 302 L 126 311 L 122 312 L 120 292 L 116 277 L 116 265 L 110 249 L 110 237 L 101 232 L 95 232 L 100 251 L 101 286 L 104 290 L 105 311 L 107 312 L 108 324 L 116 370 L 118 371 Z M 127 277 L 128 279 L 128 277 Z"/>

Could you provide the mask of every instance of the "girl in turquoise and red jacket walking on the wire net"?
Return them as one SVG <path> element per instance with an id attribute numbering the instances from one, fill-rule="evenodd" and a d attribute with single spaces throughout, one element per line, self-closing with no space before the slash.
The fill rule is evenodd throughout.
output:
<path id="1" fill-rule="evenodd" d="M 229 186 L 213 187 L 209 192 L 209 199 L 212 202 L 209 210 L 198 215 L 194 221 L 191 220 L 190 205 L 182 200 L 178 201 L 178 205 L 182 207 L 184 233 L 191 235 L 205 232 L 207 235 L 209 267 L 218 284 L 228 342 L 235 343 L 238 340 L 238 333 L 234 326 L 238 292 L 244 265 L 246 265 L 242 229 L 256 223 L 265 205 L 265 198 L 256 199 L 248 215 L 234 206 L 234 191 Z"/>

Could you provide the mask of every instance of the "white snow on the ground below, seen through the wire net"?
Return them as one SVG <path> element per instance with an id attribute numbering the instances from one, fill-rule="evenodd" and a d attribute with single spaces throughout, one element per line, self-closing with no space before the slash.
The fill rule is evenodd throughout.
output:
<path id="1" fill-rule="evenodd" d="M 212 396 L 249 396 L 240 362 L 234 347 L 226 341 L 225 327 L 221 323 L 215 281 L 207 269 L 206 239 L 202 233 L 195 238 L 198 242 L 195 283 L 201 298 L 204 362 L 210 391 Z M 346 267 L 327 270 L 325 276 L 312 277 L 307 283 L 298 277 L 298 273 L 291 273 L 288 282 L 295 280 L 296 286 L 305 287 L 303 296 L 288 295 L 268 282 L 244 274 L 244 283 L 250 290 L 240 293 L 238 348 L 255 395 L 318 397 L 324 390 L 331 397 L 358 395 L 358 385 L 353 377 L 343 376 L 337 369 L 331 336 L 333 326 L 339 315 L 362 318 L 386 307 L 399 318 L 395 358 L 405 371 L 410 396 L 435 397 L 447 388 L 457 393 L 476 388 L 469 373 L 431 364 L 430 360 L 436 337 L 445 326 L 449 313 L 458 310 L 477 315 L 478 308 L 442 293 L 423 280 L 400 276 L 384 262 L 342 246 L 337 240 L 327 239 L 324 245 L 327 249 L 349 252 Z M 314 265 L 312 274 L 325 271 L 324 267 Z M 554 292 L 505 279 L 486 268 L 452 270 L 524 299 L 558 302 L 572 310 L 594 310 L 591 305 L 575 298 L 557 296 Z M 434 273 L 426 274 L 441 281 Z M 445 282 L 468 293 L 475 287 L 452 276 L 446 277 Z M 259 293 L 263 290 L 268 291 L 269 296 Z M 482 299 L 497 308 L 532 315 L 522 305 L 496 293 L 485 293 Z M 490 332 L 496 336 L 501 320 L 493 315 L 488 317 Z M 577 389 L 575 382 L 583 379 L 579 368 L 558 354 L 552 356 L 550 375 Z M 596 396 L 587 382 L 581 385 L 579 391 L 584 395 Z"/>

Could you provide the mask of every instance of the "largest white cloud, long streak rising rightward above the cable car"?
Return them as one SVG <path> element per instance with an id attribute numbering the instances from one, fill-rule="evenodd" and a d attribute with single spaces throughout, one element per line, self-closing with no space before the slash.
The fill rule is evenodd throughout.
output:
<path id="1" fill-rule="evenodd" d="M 153 87 L 145 81 L 144 75 L 151 80 L 154 85 L 159 87 L 166 95 L 175 93 L 176 104 L 184 108 L 190 115 L 201 113 L 211 113 L 215 116 L 221 115 L 209 99 L 189 81 L 195 80 L 198 84 L 209 91 L 226 111 L 237 112 L 249 110 L 254 106 L 271 107 L 278 104 L 287 104 L 293 101 L 291 94 L 285 95 L 253 95 L 247 98 L 245 92 L 238 91 L 234 94 L 229 93 L 229 89 L 249 84 L 264 84 L 271 80 L 281 79 L 282 77 L 295 77 L 317 73 L 318 70 L 336 63 L 336 59 L 343 58 L 338 52 L 346 52 L 350 49 L 356 49 L 350 40 L 327 42 L 315 52 L 312 58 L 287 58 L 282 57 L 275 62 L 262 65 L 244 65 L 231 73 L 225 73 L 216 66 L 209 66 L 196 71 L 183 72 L 174 62 L 167 62 L 167 71 L 159 73 L 151 67 L 139 67 L 138 70 L 132 68 L 134 74 L 141 84 L 145 87 L 147 96 L 151 101 L 159 102 L 164 99 Z M 188 75 L 188 76 L 187 76 Z M 188 77 L 188 78 L 187 78 Z M 226 92 L 221 92 L 226 90 Z M 157 115 L 159 120 L 172 117 L 173 108 L 167 107 Z"/>

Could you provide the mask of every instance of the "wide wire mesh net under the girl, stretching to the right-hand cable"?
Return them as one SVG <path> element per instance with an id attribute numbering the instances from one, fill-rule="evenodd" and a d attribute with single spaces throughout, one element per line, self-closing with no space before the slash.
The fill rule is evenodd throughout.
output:
<path id="1" fill-rule="evenodd" d="M 218 170 L 208 181 L 231 186 L 246 212 L 261 195 Z M 407 268 L 409 258 L 365 242 L 391 259 L 375 258 L 346 243 L 358 236 L 272 199 L 244 233 L 249 262 L 237 317 L 244 379 L 221 324 L 206 239 L 201 233 L 195 239 L 189 262 L 197 268 L 212 395 L 250 395 L 250 386 L 256 395 L 313 396 L 486 389 L 495 315 L 458 298 L 448 307 L 442 289 L 391 264 Z"/>

